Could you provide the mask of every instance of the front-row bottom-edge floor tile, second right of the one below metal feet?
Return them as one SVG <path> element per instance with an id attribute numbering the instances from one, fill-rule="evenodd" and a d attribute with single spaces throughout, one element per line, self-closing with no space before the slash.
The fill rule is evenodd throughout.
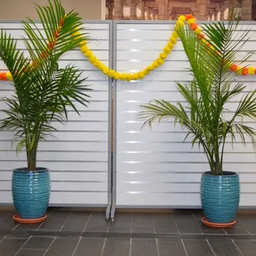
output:
<path id="1" fill-rule="evenodd" d="M 159 256 L 186 256 L 181 239 L 158 239 Z"/>

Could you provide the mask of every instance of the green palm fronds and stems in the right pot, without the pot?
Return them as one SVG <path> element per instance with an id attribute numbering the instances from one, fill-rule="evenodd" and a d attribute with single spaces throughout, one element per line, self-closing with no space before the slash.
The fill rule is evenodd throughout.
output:
<path id="1" fill-rule="evenodd" d="M 235 81 L 238 73 L 231 73 L 230 68 L 237 62 L 239 50 L 249 38 L 249 31 L 235 32 L 239 21 L 231 19 L 227 24 L 218 21 L 204 26 L 208 40 L 202 40 L 187 26 L 178 28 L 183 48 L 190 63 L 189 72 L 192 81 L 177 83 L 178 92 L 183 96 L 185 105 L 178 102 L 174 106 L 166 100 L 154 100 L 142 107 L 139 116 L 145 125 L 154 121 L 173 118 L 174 124 L 187 129 L 187 136 L 192 135 L 192 146 L 202 146 L 211 174 L 223 174 L 225 142 L 231 138 L 233 143 L 239 135 L 245 144 L 249 140 L 255 146 L 256 132 L 247 126 L 243 119 L 256 117 L 255 90 L 247 92 L 243 83 Z M 211 44 L 211 45 L 210 45 Z M 250 55 L 244 55 L 240 65 Z M 238 68 L 238 72 L 247 72 Z M 227 109 L 232 97 L 240 97 L 236 110 Z"/>

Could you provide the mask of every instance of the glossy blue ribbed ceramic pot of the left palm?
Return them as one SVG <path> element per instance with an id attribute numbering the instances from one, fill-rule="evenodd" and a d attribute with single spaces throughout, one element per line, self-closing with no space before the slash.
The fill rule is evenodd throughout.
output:
<path id="1" fill-rule="evenodd" d="M 12 198 L 21 219 L 45 215 L 50 199 L 50 173 L 47 168 L 16 168 L 12 173 Z"/>

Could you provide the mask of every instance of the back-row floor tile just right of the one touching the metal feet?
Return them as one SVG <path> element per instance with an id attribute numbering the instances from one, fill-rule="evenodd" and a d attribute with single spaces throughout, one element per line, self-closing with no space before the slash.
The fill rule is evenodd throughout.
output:
<path id="1" fill-rule="evenodd" d="M 131 233 L 154 233 L 153 214 L 132 213 Z"/>

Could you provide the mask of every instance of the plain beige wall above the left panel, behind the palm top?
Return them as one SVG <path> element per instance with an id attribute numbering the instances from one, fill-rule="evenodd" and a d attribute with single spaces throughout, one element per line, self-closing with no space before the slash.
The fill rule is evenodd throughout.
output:
<path id="1" fill-rule="evenodd" d="M 83 20 L 101 20 L 101 0 L 62 0 L 66 9 L 75 9 Z M 47 0 L 0 0 L 0 20 L 22 20 L 26 17 L 38 20 L 35 3 L 40 6 L 48 5 Z"/>

